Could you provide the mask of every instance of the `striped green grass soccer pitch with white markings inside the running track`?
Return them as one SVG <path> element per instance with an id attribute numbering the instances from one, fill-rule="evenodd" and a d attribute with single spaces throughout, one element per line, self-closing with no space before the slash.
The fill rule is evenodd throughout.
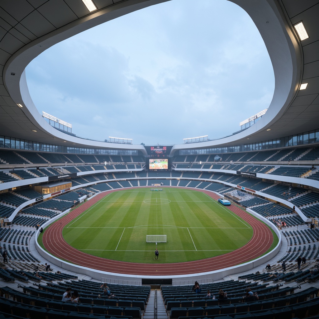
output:
<path id="1" fill-rule="evenodd" d="M 155 243 L 146 235 L 167 235 Z M 245 245 L 252 227 L 192 189 L 109 193 L 63 228 L 63 238 L 90 255 L 135 263 L 173 263 L 226 254 Z"/>

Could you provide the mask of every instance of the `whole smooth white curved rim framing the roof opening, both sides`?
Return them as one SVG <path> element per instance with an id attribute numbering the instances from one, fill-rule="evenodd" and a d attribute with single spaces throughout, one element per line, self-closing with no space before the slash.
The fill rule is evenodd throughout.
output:
<path id="1" fill-rule="evenodd" d="M 25 108 L 23 108 L 23 112 L 30 121 L 39 130 L 51 136 L 79 144 L 81 145 L 80 147 L 134 149 L 140 150 L 146 155 L 146 150 L 142 145 L 110 144 L 106 146 L 103 142 L 71 137 L 52 128 L 42 118 L 33 104 L 26 83 L 25 68 L 41 52 L 60 41 L 127 13 L 166 1 L 127 0 L 78 19 L 27 44 L 13 54 L 4 66 L 4 85 L 10 93 L 11 98 L 15 103 L 24 104 Z M 271 104 L 263 118 L 249 129 L 234 136 L 197 143 L 196 146 L 194 144 L 174 145 L 171 154 L 179 149 L 210 147 L 226 143 L 233 143 L 234 145 L 234 142 L 237 140 L 265 130 L 265 128 L 276 122 L 285 113 L 300 86 L 303 64 L 299 42 L 292 32 L 291 25 L 289 25 L 281 8 L 278 7 L 277 1 L 233 0 L 232 2 L 238 4 L 249 14 L 265 42 L 275 75 L 275 90 Z M 16 76 L 11 76 L 11 72 L 14 72 Z"/>

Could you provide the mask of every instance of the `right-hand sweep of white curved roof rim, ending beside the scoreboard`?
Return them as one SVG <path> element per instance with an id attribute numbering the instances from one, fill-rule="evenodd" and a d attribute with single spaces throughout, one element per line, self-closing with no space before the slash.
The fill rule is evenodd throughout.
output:
<path id="1" fill-rule="evenodd" d="M 303 71 L 302 49 L 281 8 L 278 8 L 276 2 L 272 0 L 233 0 L 232 2 L 249 14 L 268 50 L 275 76 L 275 90 L 271 104 L 266 114 L 247 130 L 217 140 L 174 145 L 171 155 L 181 149 L 226 146 L 228 143 L 235 145 L 236 141 L 239 141 L 238 144 L 243 144 L 243 139 L 274 124 L 286 112 L 298 93 Z"/>

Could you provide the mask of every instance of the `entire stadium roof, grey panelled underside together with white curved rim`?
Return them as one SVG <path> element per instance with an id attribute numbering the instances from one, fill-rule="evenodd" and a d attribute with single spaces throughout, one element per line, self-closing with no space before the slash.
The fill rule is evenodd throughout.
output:
<path id="1" fill-rule="evenodd" d="M 0 4 L 0 135 L 77 147 L 140 149 L 141 145 L 108 144 L 72 137 L 52 128 L 29 95 L 25 68 L 47 48 L 103 22 L 165 0 L 94 0 L 89 12 L 82 0 L 17 0 Z M 319 2 L 234 0 L 256 24 L 275 75 L 271 105 L 263 118 L 236 135 L 196 147 L 239 145 L 318 129 Z M 194 5 L 196 2 L 194 1 Z M 300 41 L 294 25 L 303 22 L 309 38 Z M 63 76 L 63 75 L 61 75 Z M 308 83 L 305 90 L 300 85 Z M 22 107 L 19 107 L 20 104 Z M 256 110 L 258 111 L 258 110 Z M 194 145 L 176 145 L 179 148 Z"/>

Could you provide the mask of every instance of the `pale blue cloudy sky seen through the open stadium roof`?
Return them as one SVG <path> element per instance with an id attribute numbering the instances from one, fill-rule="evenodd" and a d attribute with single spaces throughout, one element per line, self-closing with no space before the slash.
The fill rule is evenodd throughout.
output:
<path id="1" fill-rule="evenodd" d="M 226 0 L 172 0 L 82 32 L 26 68 L 33 102 L 80 137 L 182 144 L 223 137 L 268 108 L 263 40 Z"/>

